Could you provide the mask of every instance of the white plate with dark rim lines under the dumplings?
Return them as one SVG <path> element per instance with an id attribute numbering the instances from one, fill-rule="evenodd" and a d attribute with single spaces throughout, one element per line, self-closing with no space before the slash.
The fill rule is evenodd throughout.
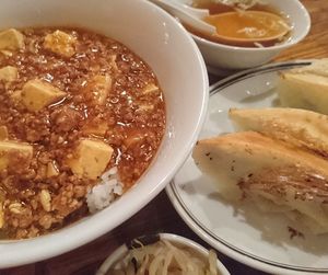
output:
<path id="1" fill-rule="evenodd" d="M 213 85 L 208 118 L 200 138 L 233 131 L 230 107 L 269 107 L 277 98 L 278 72 L 309 61 L 273 64 L 243 71 Z M 251 206 L 236 208 L 222 200 L 211 180 L 191 158 L 166 192 L 187 225 L 219 251 L 255 268 L 279 274 L 328 274 L 328 236 L 303 232 L 294 237 L 293 225 L 282 215 L 263 215 Z M 294 228 L 294 227 L 293 227 Z"/>

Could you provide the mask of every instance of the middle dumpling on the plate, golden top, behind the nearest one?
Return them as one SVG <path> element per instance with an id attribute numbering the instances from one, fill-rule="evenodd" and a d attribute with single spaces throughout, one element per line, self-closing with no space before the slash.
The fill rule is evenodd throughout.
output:
<path id="1" fill-rule="evenodd" d="M 232 108 L 237 130 L 255 130 L 328 158 L 328 116 L 301 108 Z"/>

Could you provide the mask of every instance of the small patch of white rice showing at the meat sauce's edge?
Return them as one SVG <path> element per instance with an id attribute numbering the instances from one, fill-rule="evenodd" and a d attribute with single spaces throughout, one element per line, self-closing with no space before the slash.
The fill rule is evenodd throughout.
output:
<path id="1" fill-rule="evenodd" d="M 101 176 L 101 182 L 86 194 L 90 213 L 95 213 L 110 205 L 117 196 L 122 194 L 122 183 L 114 167 Z"/>

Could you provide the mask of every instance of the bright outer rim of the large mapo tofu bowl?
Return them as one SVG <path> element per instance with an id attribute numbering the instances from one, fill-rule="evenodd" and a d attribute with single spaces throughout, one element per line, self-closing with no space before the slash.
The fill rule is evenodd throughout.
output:
<path id="1" fill-rule="evenodd" d="M 98 227 L 90 227 L 91 222 L 94 222 L 95 220 L 104 220 L 106 219 L 106 217 L 108 220 L 108 216 L 105 211 L 105 208 L 104 210 L 87 217 L 90 218 L 90 220 L 87 218 L 81 219 L 72 225 L 69 225 L 60 230 L 55 230 L 48 234 L 23 240 L 0 241 L 0 268 L 28 264 L 32 262 L 43 261 L 49 257 L 63 254 L 87 242 L 91 242 L 96 238 L 113 230 L 114 228 L 118 227 L 125 220 L 127 220 L 138 210 L 140 210 L 143 206 L 145 206 L 150 200 L 152 200 L 162 190 L 164 190 L 165 185 L 169 182 L 169 180 L 186 161 L 194 145 L 196 144 L 198 135 L 201 130 L 201 126 L 206 118 L 206 111 L 209 100 L 209 79 L 202 55 L 192 37 L 189 35 L 189 33 L 174 18 L 172 18 L 164 10 L 162 10 L 161 8 L 148 0 L 138 1 L 138 4 L 148 5 L 148 9 L 156 12 L 159 15 L 161 15 L 161 19 L 165 19 L 172 24 L 175 31 L 177 31 L 180 35 L 185 36 L 185 39 L 190 45 L 190 50 L 195 56 L 195 64 L 197 64 L 197 67 L 199 67 L 199 71 L 201 72 L 201 76 L 199 76 L 201 87 L 199 95 L 199 115 L 197 116 L 197 121 L 194 124 L 195 126 L 190 130 L 190 138 L 186 140 L 185 146 L 181 148 L 183 152 L 179 153 L 179 159 L 177 159 L 171 165 L 171 170 L 164 176 L 159 179 L 159 181 L 155 184 L 151 185 L 151 188 L 147 193 L 147 199 L 144 197 L 142 198 L 142 196 L 139 196 L 133 200 L 133 203 L 131 202 L 129 205 L 127 205 L 127 207 L 124 210 L 121 208 L 118 208 L 115 203 L 110 205 L 110 208 L 114 208 L 113 211 L 116 210 L 119 213 L 119 215 L 116 215 L 116 217 L 112 218 L 110 226 L 108 226 L 107 221 L 103 222 L 102 226 Z M 167 134 L 167 131 L 168 127 L 166 125 L 165 133 Z M 159 150 L 161 150 L 161 147 Z M 133 192 L 133 188 L 131 190 Z M 91 219 L 93 220 L 91 221 Z"/>

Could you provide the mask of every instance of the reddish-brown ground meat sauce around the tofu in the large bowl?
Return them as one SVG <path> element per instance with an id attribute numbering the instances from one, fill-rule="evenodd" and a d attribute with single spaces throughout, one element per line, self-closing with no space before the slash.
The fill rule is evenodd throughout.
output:
<path id="1" fill-rule="evenodd" d="M 12 56 L 0 53 L 0 68 L 13 66 L 19 76 L 10 83 L 0 80 L 0 126 L 7 127 L 9 140 L 33 146 L 32 159 L 15 154 L 13 164 L 0 169 L 1 238 L 36 237 L 89 214 L 85 195 L 97 180 L 80 179 L 66 161 L 74 156 L 78 140 L 97 138 L 114 149 L 106 170 L 117 167 L 127 191 L 149 167 L 164 135 L 163 94 L 160 88 L 147 91 L 159 83 L 143 60 L 116 41 L 71 28 L 61 31 L 77 42 L 74 54 L 61 56 L 44 47 L 45 36 L 56 30 L 21 30 L 25 47 Z M 97 78 L 104 83 L 94 84 Z M 14 94 L 34 79 L 66 96 L 28 111 Z M 101 94 L 106 84 L 110 91 Z"/>

